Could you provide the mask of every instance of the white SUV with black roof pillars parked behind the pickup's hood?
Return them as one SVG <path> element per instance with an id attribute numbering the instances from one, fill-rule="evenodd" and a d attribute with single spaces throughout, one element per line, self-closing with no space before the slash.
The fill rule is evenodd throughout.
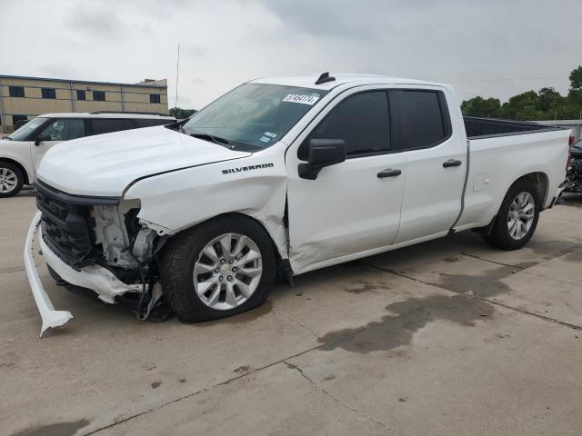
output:
<path id="1" fill-rule="evenodd" d="M 94 134 L 171 124 L 171 116 L 156 114 L 45 114 L 0 139 L 0 198 L 12 197 L 25 184 L 35 182 L 35 172 L 53 145 Z"/>

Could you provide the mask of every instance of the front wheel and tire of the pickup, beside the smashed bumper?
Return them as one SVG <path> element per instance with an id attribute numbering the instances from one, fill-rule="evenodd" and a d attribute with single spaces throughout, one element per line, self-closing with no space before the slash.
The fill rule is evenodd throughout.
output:
<path id="1" fill-rule="evenodd" d="M 266 300 L 276 275 L 273 243 L 243 215 L 225 215 L 172 238 L 162 287 L 178 318 L 200 322 L 245 312 Z"/>

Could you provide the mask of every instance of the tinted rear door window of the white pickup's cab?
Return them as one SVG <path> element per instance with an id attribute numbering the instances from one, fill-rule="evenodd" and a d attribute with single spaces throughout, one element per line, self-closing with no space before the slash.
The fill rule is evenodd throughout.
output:
<path id="1" fill-rule="evenodd" d="M 437 91 L 390 91 L 390 128 L 395 150 L 442 142 L 451 131 L 444 95 Z"/>

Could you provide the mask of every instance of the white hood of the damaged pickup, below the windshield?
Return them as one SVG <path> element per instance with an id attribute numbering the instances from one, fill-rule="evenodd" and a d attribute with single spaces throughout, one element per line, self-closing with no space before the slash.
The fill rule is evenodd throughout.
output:
<path id="1" fill-rule="evenodd" d="M 135 179 L 249 155 L 156 126 L 57 144 L 36 176 L 65 193 L 118 197 Z"/>

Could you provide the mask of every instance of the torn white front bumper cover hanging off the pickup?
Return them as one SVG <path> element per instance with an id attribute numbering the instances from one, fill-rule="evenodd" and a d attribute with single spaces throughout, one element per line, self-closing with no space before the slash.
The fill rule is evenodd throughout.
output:
<path id="1" fill-rule="evenodd" d="M 58 327 L 68 322 L 73 315 L 68 311 L 56 311 L 48 294 L 45 292 L 40 276 L 35 266 L 33 257 L 35 233 L 38 232 L 39 244 L 45 258 L 45 262 L 55 272 L 61 276 L 65 282 L 69 282 L 76 286 L 91 289 L 95 291 L 99 298 L 104 302 L 115 302 L 115 296 L 124 294 L 125 292 L 142 292 L 142 285 L 140 284 L 125 284 L 118 280 L 113 272 L 98 266 L 88 265 L 81 270 L 76 271 L 68 264 L 63 262 L 43 240 L 42 233 L 39 227 L 42 213 L 37 212 L 33 218 L 25 242 L 25 270 L 30 283 L 30 288 L 35 297 L 38 312 L 42 318 L 42 327 L 40 336 L 43 335 L 46 329 L 51 327 Z"/>

